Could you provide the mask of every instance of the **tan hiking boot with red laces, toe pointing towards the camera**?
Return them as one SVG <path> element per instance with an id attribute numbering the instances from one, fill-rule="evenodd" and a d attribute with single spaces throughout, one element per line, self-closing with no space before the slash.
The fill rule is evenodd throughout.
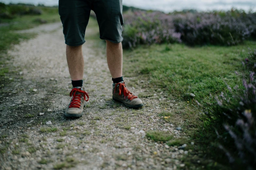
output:
<path id="1" fill-rule="evenodd" d="M 88 93 L 84 91 L 84 86 L 74 87 L 70 94 L 72 96 L 69 105 L 66 108 L 66 117 L 81 117 L 83 115 L 83 109 L 85 101 L 89 100 Z M 86 100 L 87 96 L 87 100 Z"/>

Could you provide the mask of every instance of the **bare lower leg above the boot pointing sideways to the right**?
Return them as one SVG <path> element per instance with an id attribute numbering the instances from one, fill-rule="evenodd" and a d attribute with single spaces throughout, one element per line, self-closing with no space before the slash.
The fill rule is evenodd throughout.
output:
<path id="1" fill-rule="evenodd" d="M 122 77 L 123 49 L 122 43 L 107 42 L 107 61 L 112 78 Z"/>

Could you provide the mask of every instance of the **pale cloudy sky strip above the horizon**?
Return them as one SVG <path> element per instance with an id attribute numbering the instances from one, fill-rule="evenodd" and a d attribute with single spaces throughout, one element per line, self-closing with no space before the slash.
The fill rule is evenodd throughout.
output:
<path id="1" fill-rule="evenodd" d="M 4 3 L 38 3 L 53 6 L 58 5 L 58 0 L 0 0 Z M 248 11 L 256 11 L 256 0 L 123 0 L 123 5 L 143 9 L 155 9 L 171 12 L 182 9 L 207 10 L 230 10 L 232 7 Z"/>

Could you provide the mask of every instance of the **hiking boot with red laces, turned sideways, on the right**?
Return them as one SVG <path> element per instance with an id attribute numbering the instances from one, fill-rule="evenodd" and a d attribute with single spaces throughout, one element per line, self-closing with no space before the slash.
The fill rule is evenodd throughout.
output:
<path id="1" fill-rule="evenodd" d="M 141 99 L 128 91 L 124 81 L 113 83 L 113 100 L 121 102 L 125 106 L 131 108 L 138 108 L 143 106 Z"/>

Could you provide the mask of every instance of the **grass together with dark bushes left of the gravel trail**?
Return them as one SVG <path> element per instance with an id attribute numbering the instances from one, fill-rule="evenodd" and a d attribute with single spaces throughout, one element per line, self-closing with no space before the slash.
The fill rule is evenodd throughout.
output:
<path id="1" fill-rule="evenodd" d="M 4 67 L 6 50 L 13 44 L 34 37 L 33 33 L 20 34 L 15 31 L 33 28 L 43 23 L 60 21 L 57 7 L 35 7 L 27 4 L 5 5 L 0 2 L 0 84 L 8 83 L 4 78 L 8 68 Z"/>

